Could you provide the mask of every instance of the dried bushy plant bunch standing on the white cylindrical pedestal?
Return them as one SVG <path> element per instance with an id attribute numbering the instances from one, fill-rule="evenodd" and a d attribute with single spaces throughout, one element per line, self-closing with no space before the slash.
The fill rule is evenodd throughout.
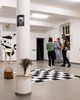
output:
<path id="1" fill-rule="evenodd" d="M 23 67 L 24 74 L 26 74 L 26 70 L 29 65 L 32 65 L 32 61 L 28 58 L 24 58 L 20 60 L 20 65 Z"/>

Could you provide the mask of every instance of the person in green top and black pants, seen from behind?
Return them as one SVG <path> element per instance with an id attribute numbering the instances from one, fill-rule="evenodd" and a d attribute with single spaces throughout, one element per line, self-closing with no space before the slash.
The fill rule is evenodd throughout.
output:
<path id="1" fill-rule="evenodd" d="M 54 59 L 55 59 L 54 48 L 55 48 L 55 44 L 54 44 L 52 38 L 50 37 L 48 40 L 48 43 L 46 44 L 46 49 L 48 51 L 48 65 L 50 67 L 54 66 Z"/>

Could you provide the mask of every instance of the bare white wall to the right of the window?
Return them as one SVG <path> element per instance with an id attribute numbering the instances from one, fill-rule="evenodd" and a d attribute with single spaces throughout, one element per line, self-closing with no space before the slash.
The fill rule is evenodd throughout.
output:
<path id="1" fill-rule="evenodd" d="M 80 63 L 80 19 L 71 20 L 70 61 Z"/>

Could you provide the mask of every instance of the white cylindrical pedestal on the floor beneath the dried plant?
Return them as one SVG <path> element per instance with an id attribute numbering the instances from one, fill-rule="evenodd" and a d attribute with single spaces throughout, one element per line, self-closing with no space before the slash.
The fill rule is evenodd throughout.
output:
<path id="1" fill-rule="evenodd" d="M 31 75 L 16 74 L 15 76 L 15 93 L 29 94 L 32 92 Z"/>

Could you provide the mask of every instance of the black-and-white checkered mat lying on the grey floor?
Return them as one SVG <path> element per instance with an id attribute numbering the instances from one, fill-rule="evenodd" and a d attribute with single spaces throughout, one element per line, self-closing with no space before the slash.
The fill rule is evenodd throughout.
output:
<path id="1" fill-rule="evenodd" d="M 32 70 L 32 83 L 34 82 L 45 82 L 52 80 L 65 80 L 65 79 L 73 79 L 80 78 L 78 75 L 72 75 L 66 72 L 59 72 L 53 69 L 36 69 Z"/>

